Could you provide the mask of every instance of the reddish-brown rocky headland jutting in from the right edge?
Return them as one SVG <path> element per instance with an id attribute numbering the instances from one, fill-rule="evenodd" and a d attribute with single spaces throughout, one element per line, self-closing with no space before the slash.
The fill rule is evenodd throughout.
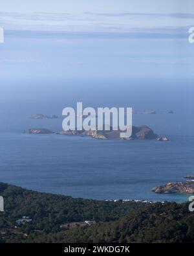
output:
<path id="1" fill-rule="evenodd" d="M 153 187 L 152 191 L 158 194 L 170 194 L 170 193 L 194 194 L 194 181 L 169 182 L 169 183 L 166 183 L 165 185 Z"/>

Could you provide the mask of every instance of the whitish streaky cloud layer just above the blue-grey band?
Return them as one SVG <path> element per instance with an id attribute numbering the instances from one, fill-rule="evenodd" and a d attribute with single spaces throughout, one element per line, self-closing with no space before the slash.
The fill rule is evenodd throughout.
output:
<path id="1" fill-rule="evenodd" d="M 127 38 L 182 38 L 193 25 L 194 14 L 172 13 L 13 13 L 0 12 L 0 27 L 28 30 L 80 33 L 128 33 Z M 185 30 L 185 31 L 184 31 Z M 160 34 L 160 35 L 159 35 Z M 168 35 L 168 36 L 167 36 Z M 112 34 L 114 36 L 114 34 Z"/>

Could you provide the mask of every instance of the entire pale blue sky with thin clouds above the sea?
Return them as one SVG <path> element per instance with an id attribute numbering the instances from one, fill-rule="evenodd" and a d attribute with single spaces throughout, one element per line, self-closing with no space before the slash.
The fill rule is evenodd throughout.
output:
<path id="1" fill-rule="evenodd" d="M 0 0 L 0 27 L 2 78 L 193 77 L 193 0 Z"/>

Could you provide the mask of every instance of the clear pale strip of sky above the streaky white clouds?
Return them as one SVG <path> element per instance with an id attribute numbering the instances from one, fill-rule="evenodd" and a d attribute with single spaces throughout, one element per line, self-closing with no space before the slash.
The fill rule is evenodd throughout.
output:
<path id="1" fill-rule="evenodd" d="M 193 0 L 6 0 L 1 12 L 192 12 Z"/>

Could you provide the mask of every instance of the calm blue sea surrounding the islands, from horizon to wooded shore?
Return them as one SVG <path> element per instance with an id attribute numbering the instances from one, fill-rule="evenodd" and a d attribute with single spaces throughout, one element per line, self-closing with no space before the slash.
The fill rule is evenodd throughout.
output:
<path id="1" fill-rule="evenodd" d="M 0 95 L 0 180 L 36 191 L 98 200 L 136 199 L 184 202 L 189 194 L 156 194 L 151 189 L 194 174 L 191 81 L 175 79 L 10 79 Z M 133 115 L 159 141 L 103 141 L 69 135 L 23 134 L 28 128 L 61 130 L 63 108 L 132 107 L 156 111 Z M 173 114 L 168 111 L 173 110 Z M 34 120 L 30 115 L 57 114 Z"/>

